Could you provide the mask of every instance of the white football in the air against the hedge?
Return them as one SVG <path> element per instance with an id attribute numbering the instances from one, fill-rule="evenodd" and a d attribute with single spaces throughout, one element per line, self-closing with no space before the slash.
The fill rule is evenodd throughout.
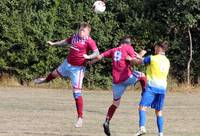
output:
<path id="1" fill-rule="evenodd" d="M 95 13 L 102 13 L 106 10 L 106 4 L 103 1 L 95 1 L 93 4 L 93 9 Z"/>

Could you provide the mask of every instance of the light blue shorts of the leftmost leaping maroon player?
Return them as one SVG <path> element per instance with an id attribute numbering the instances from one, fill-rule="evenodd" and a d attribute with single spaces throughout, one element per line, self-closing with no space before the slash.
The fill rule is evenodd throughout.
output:
<path id="1" fill-rule="evenodd" d="M 85 73 L 85 67 L 72 66 L 65 59 L 64 62 L 57 68 L 57 71 L 62 77 L 70 78 L 73 88 L 77 89 L 77 91 L 81 90 Z"/>

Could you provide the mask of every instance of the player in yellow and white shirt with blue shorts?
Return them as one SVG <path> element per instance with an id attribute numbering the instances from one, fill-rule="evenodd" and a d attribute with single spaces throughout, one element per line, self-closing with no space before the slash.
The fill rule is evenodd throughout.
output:
<path id="1" fill-rule="evenodd" d="M 150 106 L 151 108 L 155 109 L 159 131 L 158 136 L 163 136 L 164 121 L 162 116 L 162 109 L 164 106 L 165 94 L 167 89 L 167 75 L 170 68 L 170 62 L 165 56 L 167 48 L 168 42 L 158 42 L 157 44 L 155 44 L 155 55 L 147 56 L 143 59 L 143 61 L 135 60 L 135 62 L 138 64 L 143 63 L 147 65 L 147 87 L 146 90 L 143 92 L 139 104 L 140 129 L 135 134 L 135 136 L 141 136 L 146 133 L 146 109 Z"/>

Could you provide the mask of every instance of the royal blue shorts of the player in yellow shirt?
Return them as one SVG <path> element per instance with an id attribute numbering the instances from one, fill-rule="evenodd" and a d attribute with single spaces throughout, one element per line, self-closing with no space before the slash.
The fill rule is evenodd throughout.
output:
<path id="1" fill-rule="evenodd" d="M 165 94 L 155 93 L 149 87 L 142 93 L 140 106 L 151 107 L 155 110 L 162 110 L 164 106 Z"/>

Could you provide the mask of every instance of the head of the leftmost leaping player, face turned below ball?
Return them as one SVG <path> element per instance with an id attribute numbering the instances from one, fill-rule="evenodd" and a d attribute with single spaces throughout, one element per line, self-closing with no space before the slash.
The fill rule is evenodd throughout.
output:
<path id="1" fill-rule="evenodd" d="M 81 38 L 84 38 L 84 37 L 87 37 L 89 34 L 90 34 L 90 31 L 91 31 L 91 26 L 90 24 L 86 23 L 86 22 L 83 22 L 81 23 L 80 25 L 80 28 L 79 28 L 79 36 Z"/>

